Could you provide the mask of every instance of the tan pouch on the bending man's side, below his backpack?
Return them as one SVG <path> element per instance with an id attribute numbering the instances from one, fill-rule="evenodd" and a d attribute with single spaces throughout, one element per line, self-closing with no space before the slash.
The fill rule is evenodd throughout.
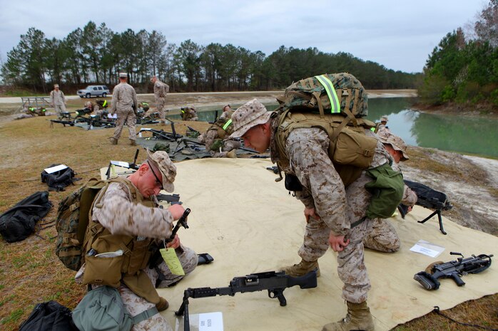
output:
<path id="1" fill-rule="evenodd" d="M 377 140 L 345 127 L 335 143 L 333 162 L 367 169 L 372 163 Z"/>

